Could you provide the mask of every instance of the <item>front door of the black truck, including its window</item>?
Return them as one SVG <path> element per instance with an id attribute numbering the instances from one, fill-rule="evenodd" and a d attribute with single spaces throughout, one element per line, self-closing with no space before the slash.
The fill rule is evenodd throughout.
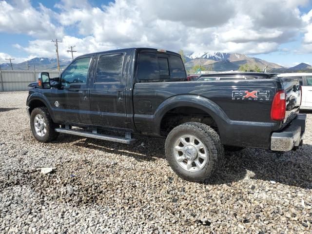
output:
<path id="1" fill-rule="evenodd" d="M 60 88 L 53 89 L 52 105 L 60 123 L 92 124 L 90 114 L 89 67 L 91 57 L 74 60 L 60 77 Z"/>

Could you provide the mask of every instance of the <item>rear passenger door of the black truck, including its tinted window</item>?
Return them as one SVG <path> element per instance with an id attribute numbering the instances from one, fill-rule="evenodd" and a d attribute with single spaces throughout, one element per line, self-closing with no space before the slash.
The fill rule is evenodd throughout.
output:
<path id="1" fill-rule="evenodd" d="M 90 86 L 91 118 L 94 125 L 127 128 L 126 74 L 124 54 L 98 55 L 98 65 Z"/>

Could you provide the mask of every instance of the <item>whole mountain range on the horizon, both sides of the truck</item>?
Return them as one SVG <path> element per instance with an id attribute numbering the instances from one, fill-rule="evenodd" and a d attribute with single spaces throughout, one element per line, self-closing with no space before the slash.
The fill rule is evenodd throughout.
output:
<path id="1" fill-rule="evenodd" d="M 72 59 L 60 59 L 59 65 L 61 68 L 66 67 Z M 237 71 L 241 65 L 248 64 L 250 66 L 258 66 L 261 70 L 267 68 L 270 72 L 298 72 L 310 71 L 312 66 L 307 63 L 300 63 L 294 67 L 287 68 L 273 62 L 268 62 L 263 59 L 249 57 L 237 53 L 215 52 L 213 54 L 207 52 L 193 53 L 185 56 L 185 68 L 190 70 L 195 65 L 201 65 L 211 71 Z M 28 65 L 28 68 L 27 68 Z M 35 68 L 34 68 L 35 66 Z M 58 67 L 57 59 L 49 58 L 34 58 L 21 63 L 13 63 L 14 70 L 56 70 Z M 2 70 L 10 70 L 10 63 L 2 63 Z"/>

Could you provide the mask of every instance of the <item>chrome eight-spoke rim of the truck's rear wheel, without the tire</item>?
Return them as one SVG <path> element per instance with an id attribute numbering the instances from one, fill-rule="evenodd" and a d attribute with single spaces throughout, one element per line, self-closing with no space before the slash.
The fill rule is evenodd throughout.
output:
<path id="1" fill-rule="evenodd" d="M 206 146 L 194 135 L 183 135 L 176 139 L 174 154 L 178 164 L 189 172 L 201 170 L 208 162 Z"/>

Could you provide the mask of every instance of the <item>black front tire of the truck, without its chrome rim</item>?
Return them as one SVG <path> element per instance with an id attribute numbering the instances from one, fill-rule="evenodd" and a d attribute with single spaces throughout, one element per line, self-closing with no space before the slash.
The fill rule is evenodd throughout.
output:
<path id="1" fill-rule="evenodd" d="M 34 120 L 37 115 L 41 115 L 44 118 L 46 133 L 44 136 L 40 137 L 35 130 Z M 30 128 L 33 133 L 33 136 L 40 142 L 50 142 L 58 138 L 59 133 L 55 131 L 55 128 L 59 125 L 55 124 L 52 121 L 52 118 L 46 107 L 37 107 L 35 108 L 30 115 Z"/>

